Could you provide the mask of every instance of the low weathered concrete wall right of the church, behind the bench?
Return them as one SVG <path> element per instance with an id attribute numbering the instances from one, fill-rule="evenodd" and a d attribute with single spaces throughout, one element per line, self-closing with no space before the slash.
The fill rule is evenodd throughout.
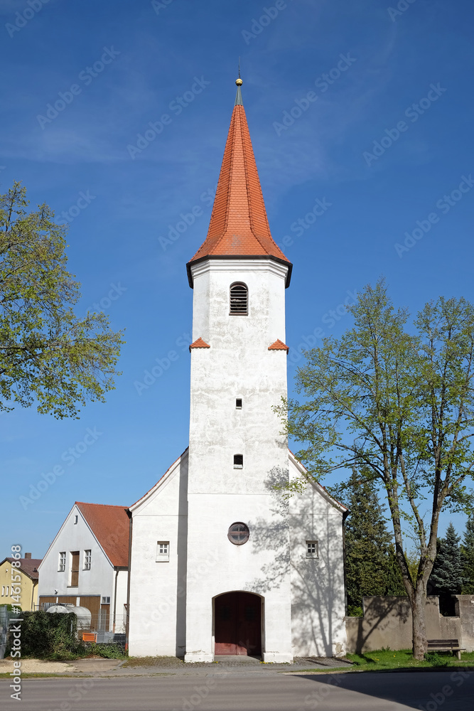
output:
<path id="1" fill-rule="evenodd" d="M 474 651 L 474 595 L 456 595 L 458 617 L 439 614 L 438 597 L 426 599 L 428 639 L 458 638 Z M 364 597 L 364 616 L 346 617 L 347 651 L 411 648 L 411 609 L 407 597 Z"/>

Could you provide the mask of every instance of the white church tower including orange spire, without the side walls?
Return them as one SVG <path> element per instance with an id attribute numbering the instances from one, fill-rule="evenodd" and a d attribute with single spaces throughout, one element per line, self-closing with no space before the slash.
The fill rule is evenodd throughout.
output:
<path id="1" fill-rule="evenodd" d="M 237 637 L 244 642 L 254 635 L 254 653 L 262 653 L 264 661 L 290 661 L 289 573 L 279 574 L 278 587 L 264 603 L 257 596 L 265 592 L 262 572 L 273 565 L 274 553 L 271 542 L 263 545 L 262 531 L 271 535 L 281 524 L 272 510 L 271 482 L 288 481 L 286 437 L 272 408 L 286 397 L 285 289 L 291 263 L 271 237 L 242 80 L 236 83 L 208 236 L 187 265 L 194 295 L 185 659 L 212 661 L 214 652 L 226 653 L 220 618 L 228 624 L 236 618 Z M 288 530 L 284 535 L 288 538 Z M 227 592 L 233 595 L 222 601 Z M 260 629 L 250 629 L 246 616 L 264 626 L 263 649 Z"/>

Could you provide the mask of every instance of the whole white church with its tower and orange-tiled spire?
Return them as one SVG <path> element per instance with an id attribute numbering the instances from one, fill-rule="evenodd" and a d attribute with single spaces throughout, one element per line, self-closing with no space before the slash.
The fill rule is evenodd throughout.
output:
<path id="1" fill-rule="evenodd" d="M 129 653 L 291 663 L 345 653 L 348 510 L 308 476 L 274 412 L 292 265 L 271 237 L 236 84 L 208 235 L 186 265 L 189 447 L 129 508 Z"/>

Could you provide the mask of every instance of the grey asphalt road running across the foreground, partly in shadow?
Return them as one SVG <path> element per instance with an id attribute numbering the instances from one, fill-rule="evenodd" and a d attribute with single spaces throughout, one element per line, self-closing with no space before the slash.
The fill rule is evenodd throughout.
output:
<path id="1" fill-rule="evenodd" d="M 474 672 L 26 679 L 2 711 L 472 711 Z"/>

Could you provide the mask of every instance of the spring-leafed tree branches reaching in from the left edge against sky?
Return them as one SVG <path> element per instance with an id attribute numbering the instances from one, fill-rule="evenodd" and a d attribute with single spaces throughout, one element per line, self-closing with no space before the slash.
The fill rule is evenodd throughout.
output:
<path id="1" fill-rule="evenodd" d="M 36 402 L 38 412 L 77 417 L 114 387 L 124 341 L 104 314 L 75 316 L 65 227 L 48 205 L 27 205 L 21 183 L 0 196 L 0 410 Z"/>

